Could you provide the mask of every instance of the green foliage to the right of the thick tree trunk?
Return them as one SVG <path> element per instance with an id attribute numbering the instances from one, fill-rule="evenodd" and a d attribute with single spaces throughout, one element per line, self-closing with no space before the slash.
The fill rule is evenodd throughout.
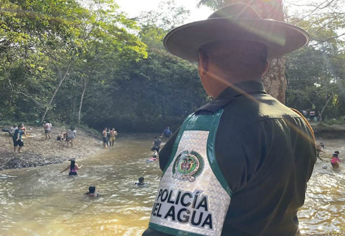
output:
<path id="1" fill-rule="evenodd" d="M 315 109 L 323 120 L 345 115 L 345 42 L 339 34 L 345 27 L 342 15 L 289 19 L 311 34 L 311 43 L 286 57 L 287 104 L 299 110 Z"/>

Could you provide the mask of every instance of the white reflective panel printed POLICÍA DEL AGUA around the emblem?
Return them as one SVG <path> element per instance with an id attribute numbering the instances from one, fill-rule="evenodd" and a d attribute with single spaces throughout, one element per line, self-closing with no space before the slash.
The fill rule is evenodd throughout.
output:
<path id="1" fill-rule="evenodd" d="M 161 178 L 150 223 L 204 236 L 221 235 L 231 198 L 208 163 L 208 133 L 194 130 L 183 132 L 173 161 Z M 176 174 L 176 165 L 180 163 L 179 154 L 184 151 L 200 154 L 199 168 L 202 171 L 192 179 L 179 173 L 180 176 L 173 176 L 173 169 Z"/>

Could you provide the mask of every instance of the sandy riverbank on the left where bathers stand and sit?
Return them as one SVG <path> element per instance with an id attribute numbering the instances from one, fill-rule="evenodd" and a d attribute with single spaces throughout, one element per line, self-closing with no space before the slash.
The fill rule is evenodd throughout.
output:
<path id="1" fill-rule="evenodd" d="M 4 127 L 7 128 L 7 127 Z M 26 126 L 29 137 L 23 136 L 22 153 L 13 153 L 12 138 L 8 133 L 0 133 L 0 170 L 43 166 L 64 162 L 70 158 L 83 159 L 102 150 L 102 144 L 85 130 L 77 130 L 73 148 L 56 140 L 63 127 L 54 127 L 51 141 L 45 141 L 43 127 Z"/>

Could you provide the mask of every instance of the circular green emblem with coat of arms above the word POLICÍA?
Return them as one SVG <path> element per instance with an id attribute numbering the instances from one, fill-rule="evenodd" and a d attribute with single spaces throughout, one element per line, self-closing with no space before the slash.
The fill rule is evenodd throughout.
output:
<path id="1" fill-rule="evenodd" d="M 204 169 L 204 159 L 196 151 L 182 151 L 173 163 L 173 178 L 193 182 Z"/>

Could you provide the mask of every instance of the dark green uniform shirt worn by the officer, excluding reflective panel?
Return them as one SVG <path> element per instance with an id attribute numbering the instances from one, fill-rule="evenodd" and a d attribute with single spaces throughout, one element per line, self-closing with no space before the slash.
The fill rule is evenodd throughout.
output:
<path id="1" fill-rule="evenodd" d="M 225 89 L 196 114 L 219 108 L 215 154 L 233 192 L 222 236 L 299 235 L 296 213 L 316 162 L 307 124 L 254 81 Z M 162 170 L 177 133 L 159 153 Z M 147 229 L 143 236 L 170 235 Z"/>

